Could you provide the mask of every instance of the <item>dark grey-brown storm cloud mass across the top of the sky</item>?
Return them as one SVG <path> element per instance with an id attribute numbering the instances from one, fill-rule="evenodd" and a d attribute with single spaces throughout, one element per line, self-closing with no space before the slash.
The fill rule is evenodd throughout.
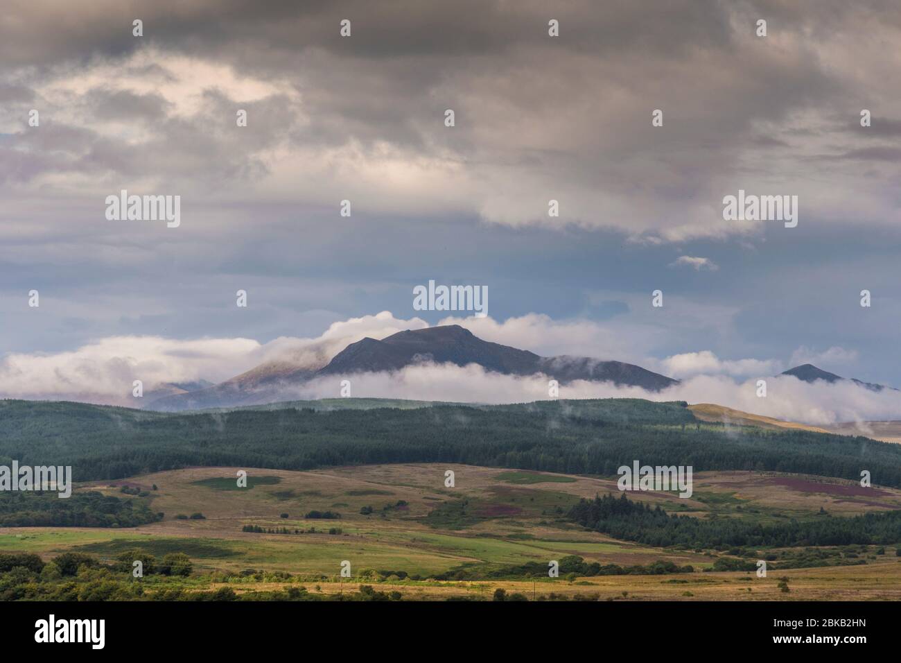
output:
<path id="1" fill-rule="evenodd" d="M 460 197 L 489 220 L 534 222 L 540 212 L 526 207 L 565 193 L 568 221 L 637 234 L 722 235 L 730 230 L 715 217 L 698 216 L 714 212 L 724 189 L 742 186 L 741 178 L 766 180 L 771 165 L 755 161 L 768 147 L 787 146 L 782 134 L 805 130 L 787 129 L 792 116 L 834 113 L 838 100 L 865 87 L 865 75 L 861 81 L 826 66 L 821 49 L 840 25 L 862 36 L 877 21 L 883 29 L 893 24 L 894 16 L 874 15 L 882 7 L 891 11 L 880 2 L 210 0 L 95 2 L 76 14 L 68 5 L 38 2 L 14 6 L 20 20 L 0 55 L 13 70 L 23 68 L 13 78 L 27 72 L 40 82 L 128 62 L 150 48 L 293 88 L 296 99 L 253 107 L 252 131 L 242 136 L 219 130 L 234 107 L 247 105 L 215 89 L 216 80 L 206 83 L 205 107 L 188 118 L 161 117 L 171 99 L 153 94 L 84 93 L 88 103 L 106 99 L 82 124 L 116 113 L 132 114 L 135 123 L 153 120 L 141 169 L 159 179 L 175 172 L 183 188 L 192 180 L 206 189 L 212 180 L 265 174 L 268 164 L 256 155 L 280 142 L 353 146 L 364 159 L 387 145 L 407 160 L 468 168 Z M 765 40 L 753 34 L 760 17 L 769 21 Z M 132 37 L 134 18 L 144 22 L 141 39 Z M 350 39 L 339 34 L 344 18 L 353 25 Z M 550 18 L 560 21 L 560 38 L 547 36 Z M 36 53 L 35 42 L 48 45 Z M 157 75 L 185 75 L 132 63 L 125 78 L 153 66 Z M 447 107 L 458 114 L 452 132 L 441 131 Z M 656 107 L 666 115 L 662 131 L 650 129 Z M 98 147 L 88 165 L 113 152 L 128 152 L 128 145 Z M 121 159 L 111 166 L 119 164 L 122 174 L 135 174 Z M 63 160 L 59 167 L 71 166 Z M 506 191 L 502 180 L 522 184 Z M 542 195 L 539 182 L 547 189 Z M 526 202 L 529 192 L 535 199 Z"/>

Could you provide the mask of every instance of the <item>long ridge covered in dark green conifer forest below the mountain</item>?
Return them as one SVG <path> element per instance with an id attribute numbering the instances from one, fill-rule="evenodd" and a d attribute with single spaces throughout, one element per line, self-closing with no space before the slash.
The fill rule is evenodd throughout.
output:
<path id="1" fill-rule="evenodd" d="M 399 410 L 165 414 L 65 402 L 0 402 L 0 457 L 73 465 L 77 481 L 194 465 L 313 469 L 454 462 L 612 475 L 633 460 L 696 471 L 768 470 L 901 486 L 901 447 L 800 429 L 697 419 L 637 399 L 432 405 Z"/>

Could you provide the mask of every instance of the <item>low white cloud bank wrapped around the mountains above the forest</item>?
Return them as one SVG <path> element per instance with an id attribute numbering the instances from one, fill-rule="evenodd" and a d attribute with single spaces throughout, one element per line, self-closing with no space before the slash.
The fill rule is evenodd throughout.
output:
<path id="1" fill-rule="evenodd" d="M 604 327 L 587 320 L 555 321 L 530 314 L 503 322 L 492 318 L 446 318 L 441 324 L 460 324 L 484 340 L 545 356 L 611 358 L 609 348 L 617 347 Z M 135 407 L 131 395 L 133 380 L 143 381 L 145 393 L 149 393 L 172 382 L 223 382 L 256 367 L 285 372 L 298 368 L 315 370 L 365 336 L 380 339 L 424 327 L 429 325 L 420 318 L 395 318 L 389 311 L 382 311 L 333 323 L 320 336 L 279 337 L 267 344 L 246 338 L 182 341 L 159 336 L 114 336 L 73 352 L 7 355 L 0 360 L 0 396 Z M 608 342 L 610 345 L 606 345 Z M 853 353 L 833 347 L 819 356 L 850 360 Z M 792 376 L 776 375 L 782 369 L 776 360 L 724 360 L 710 351 L 700 351 L 649 360 L 644 365 L 682 382 L 651 392 L 612 382 L 578 381 L 560 385 L 560 398 L 709 402 L 811 424 L 901 419 L 899 391 L 870 391 L 850 381 L 801 382 Z M 350 379 L 354 397 L 511 403 L 549 398 L 548 381 L 552 376 L 516 377 L 487 372 L 478 364 L 425 363 L 393 373 L 329 375 L 303 383 L 267 384 L 266 394 L 277 393 L 278 400 L 283 401 L 334 398 L 344 378 Z M 767 380 L 765 398 L 757 396 L 757 380 L 761 378 Z"/>

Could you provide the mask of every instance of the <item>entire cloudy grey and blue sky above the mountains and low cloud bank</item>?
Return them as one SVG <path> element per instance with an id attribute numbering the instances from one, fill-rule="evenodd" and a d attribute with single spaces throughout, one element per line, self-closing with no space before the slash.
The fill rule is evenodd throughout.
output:
<path id="1" fill-rule="evenodd" d="M 543 355 L 901 387 L 899 176 L 896 0 L 6 0 L 0 394 L 146 358 L 112 337 L 217 381 L 350 318 L 435 324 L 430 279 Z M 121 189 L 181 225 L 107 220 Z M 725 221 L 739 189 L 797 226 Z"/>

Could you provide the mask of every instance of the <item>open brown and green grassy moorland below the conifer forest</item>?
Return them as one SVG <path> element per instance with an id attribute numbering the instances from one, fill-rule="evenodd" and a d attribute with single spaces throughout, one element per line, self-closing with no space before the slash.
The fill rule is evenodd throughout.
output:
<path id="1" fill-rule="evenodd" d="M 248 473 L 246 487 L 238 486 L 239 470 Z M 454 473 L 454 487 L 445 486 L 448 470 Z M 113 563 L 135 549 L 158 558 L 185 553 L 195 572 L 186 585 L 192 592 L 221 587 L 223 583 L 216 581 L 227 578 L 225 585 L 234 585 L 237 594 L 312 583 L 323 595 L 374 585 L 423 599 L 492 597 L 498 587 L 536 598 L 539 594 L 617 600 L 901 598 L 901 558 L 894 548 L 826 548 L 833 553 L 827 559 L 831 566 L 772 571 L 759 578 L 748 572 L 712 572 L 717 560 L 739 558 L 738 550 L 646 546 L 613 539 L 565 518 L 580 498 L 618 493 L 613 478 L 437 464 L 308 472 L 194 467 L 77 488 L 92 491 L 150 502 L 152 511 L 164 516 L 131 529 L 9 528 L 0 534 L 0 552 L 36 553 L 45 560 L 77 552 L 102 563 Z M 897 489 L 867 491 L 847 481 L 753 472 L 697 474 L 690 499 L 653 492 L 630 497 L 688 517 L 760 522 L 805 518 L 821 509 L 851 517 L 901 507 Z M 334 517 L 310 517 L 316 513 Z M 203 518 L 192 519 L 196 514 Z M 247 531 L 250 527 L 261 531 Z M 792 557 L 798 552 L 755 551 L 760 558 Z M 668 561 L 693 571 L 667 576 L 448 579 L 460 569 L 503 571 L 524 562 L 547 566 L 550 560 L 568 556 L 602 566 Z M 341 582 L 345 560 L 350 562 L 351 577 Z M 265 573 L 279 572 L 289 576 L 266 581 Z M 777 586 L 785 576 L 790 595 Z"/>

